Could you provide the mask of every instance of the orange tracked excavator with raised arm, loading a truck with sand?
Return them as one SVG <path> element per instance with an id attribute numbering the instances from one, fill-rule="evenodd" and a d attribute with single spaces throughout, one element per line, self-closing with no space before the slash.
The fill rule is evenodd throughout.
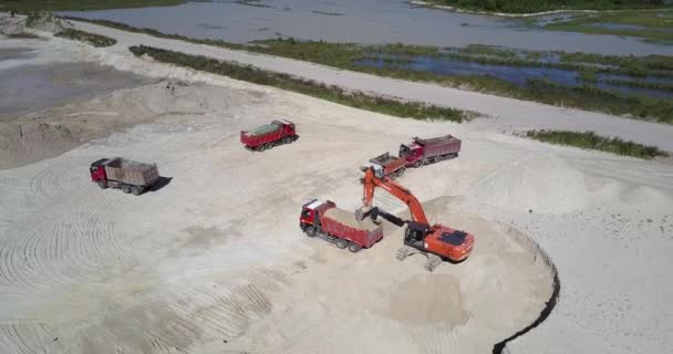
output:
<path id="1" fill-rule="evenodd" d="M 355 217 L 359 220 L 363 220 L 367 216 L 373 220 L 382 217 L 400 227 L 406 223 L 404 246 L 397 251 L 398 260 L 404 260 L 406 257 L 421 251 L 427 257 L 425 269 L 433 271 L 444 260 L 460 262 L 470 254 L 475 242 L 472 233 L 455 230 L 439 223 L 431 226 L 418 199 L 408 189 L 385 177 L 381 166 L 369 164 L 363 166 L 362 170 L 364 171 L 362 198 L 364 206 L 355 211 Z M 383 188 L 408 206 L 412 220 L 403 220 L 377 207 L 373 207 L 372 202 L 376 187 Z"/>

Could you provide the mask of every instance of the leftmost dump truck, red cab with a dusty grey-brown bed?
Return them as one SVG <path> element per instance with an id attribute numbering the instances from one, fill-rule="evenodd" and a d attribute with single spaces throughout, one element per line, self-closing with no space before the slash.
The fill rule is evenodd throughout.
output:
<path id="1" fill-rule="evenodd" d="M 139 196 L 159 179 L 156 164 L 143 164 L 122 157 L 101 158 L 89 167 L 91 180 L 105 189 L 120 188 Z"/>

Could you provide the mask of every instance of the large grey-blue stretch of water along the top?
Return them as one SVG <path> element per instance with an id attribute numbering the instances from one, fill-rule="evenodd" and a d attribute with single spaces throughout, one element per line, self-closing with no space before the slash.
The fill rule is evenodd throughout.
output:
<path id="1" fill-rule="evenodd" d="M 238 43 L 292 37 L 370 44 L 479 43 L 536 51 L 673 55 L 673 46 L 636 39 L 531 30 L 518 19 L 438 11 L 403 0 L 199 1 L 176 7 L 62 13 Z"/>

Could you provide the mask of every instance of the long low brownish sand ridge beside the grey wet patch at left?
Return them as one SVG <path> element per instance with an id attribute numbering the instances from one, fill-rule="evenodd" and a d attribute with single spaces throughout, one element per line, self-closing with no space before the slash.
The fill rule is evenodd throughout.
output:
<path id="1" fill-rule="evenodd" d="M 222 92 L 203 85 L 166 82 L 118 90 L 81 104 L 44 110 L 0 122 L 0 169 L 68 152 L 91 139 L 169 115 L 204 115 L 248 98 L 246 92 Z M 206 94 L 204 92 L 207 92 Z"/>

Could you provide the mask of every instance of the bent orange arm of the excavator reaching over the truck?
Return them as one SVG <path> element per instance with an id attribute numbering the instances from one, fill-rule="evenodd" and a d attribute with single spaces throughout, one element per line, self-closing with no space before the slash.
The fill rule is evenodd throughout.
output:
<path id="1" fill-rule="evenodd" d="M 412 214 L 413 221 L 423 225 L 428 225 L 427 218 L 425 217 L 425 211 L 423 211 L 421 202 L 418 201 L 418 199 L 416 199 L 416 197 L 414 197 L 414 195 L 412 195 L 408 189 L 400 186 L 392 179 L 385 177 L 380 166 L 363 166 L 363 170 L 364 187 L 362 192 L 362 202 L 364 206 L 355 212 L 358 219 L 362 220 L 364 219 L 364 217 L 366 217 L 367 214 L 371 212 L 372 201 L 374 200 L 374 190 L 376 189 L 376 187 L 381 187 L 397 199 L 402 200 L 402 202 L 404 202 L 408 207 L 408 210 Z M 381 211 L 379 211 L 379 214 L 381 215 Z"/>

